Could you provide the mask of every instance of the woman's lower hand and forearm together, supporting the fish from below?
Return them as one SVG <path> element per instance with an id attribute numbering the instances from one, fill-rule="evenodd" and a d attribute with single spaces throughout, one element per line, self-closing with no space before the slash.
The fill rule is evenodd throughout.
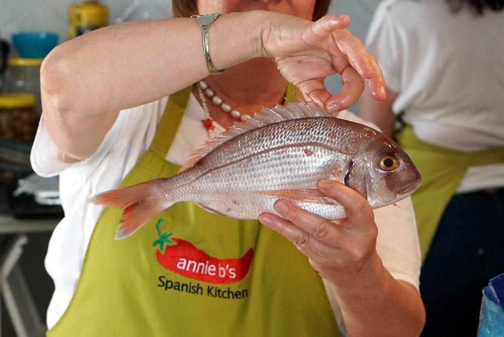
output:
<path id="1" fill-rule="evenodd" d="M 275 210 L 285 219 L 263 213 L 259 220 L 292 241 L 329 282 L 349 335 L 418 336 L 425 322 L 420 294 L 383 266 L 367 201 L 340 183 L 321 181 L 318 187 L 345 207 L 346 219 L 330 221 L 278 200 Z"/>

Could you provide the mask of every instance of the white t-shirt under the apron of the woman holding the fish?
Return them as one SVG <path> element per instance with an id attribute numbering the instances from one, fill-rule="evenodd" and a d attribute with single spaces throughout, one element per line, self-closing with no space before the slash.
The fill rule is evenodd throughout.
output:
<path id="1" fill-rule="evenodd" d="M 93 195 L 115 188 L 149 147 L 163 114 L 164 98 L 137 108 L 123 110 L 96 153 L 81 162 L 68 164 L 57 159 L 57 148 L 47 133 L 43 118 L 31 153 L 35 172 L 41 176 L 59 174 L 60 198 L 65 218 L 49 241 L 45 267 L 55 285 L 47 310 L 51 328 L 67 309 L 81 273 L 84 255 L 101 206 L 88 203 Z M 339 117 L 359 121 L 349 112 Z M 208 137 L 201 124 L 204 112 L 193 95 L 177 131 L 167 159 L 183 164 L 189 154 Z M 134 132 L 133 132 L 134 130 Z M 218 127 L 214 132 L 223 131 Z M 391 274 L 418 288 L 420 248 L 410 198 L 396 206 L 375 210 L 379 227 L 377 250 Z M 341 315 L 330 298 L 339 322 Z"/>

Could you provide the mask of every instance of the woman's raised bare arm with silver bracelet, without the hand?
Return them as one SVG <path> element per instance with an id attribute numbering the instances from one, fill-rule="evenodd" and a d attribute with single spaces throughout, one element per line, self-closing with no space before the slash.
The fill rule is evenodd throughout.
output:
<path id="1" fill-rule="evenodd" d="M 261 56 L 257 22 L 269 15 L 256 11 L 219 17 L 209 34 L 214 64 L 226 68 Z M 94 153 L 119 110 L 155 101 L 207 75 L 195 19 L 105 27 L 57 46 L 46 57 L 41 67 L 43 118 L 58 148 L 83 159 Z"/>

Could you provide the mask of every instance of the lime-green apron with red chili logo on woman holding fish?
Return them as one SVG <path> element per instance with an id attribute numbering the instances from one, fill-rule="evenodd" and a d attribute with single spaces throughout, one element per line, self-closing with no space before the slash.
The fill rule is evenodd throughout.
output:
<path id="1" fill-rule="evenodd" d="M 164 158 L 191 87 L 171 95 L 149 150 L 121 182 L 175 174 Z M 338 325 L 321 277 L 257 220 L 177 203 L 114 240 L 105 208 L 64 316 L 48 336 L 329 336 Z"/>

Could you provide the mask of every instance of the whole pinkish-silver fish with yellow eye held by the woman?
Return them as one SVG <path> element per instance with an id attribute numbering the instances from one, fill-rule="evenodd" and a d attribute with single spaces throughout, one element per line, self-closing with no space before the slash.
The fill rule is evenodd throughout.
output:
<path id="1" fill-rule="evenodd" d="M 392 139 L 334 117 L 314 102 L 263 108 L 207 140 L 175 175 L 94 196 L 94 204 L 123 210 L 115 235 L 132 235 L 157 213 L 189 201 L 239 219 L 279 215 L 278 199 L 327 219 L 345 209 L 324 196 L 320 180 L 342 183 L 371 206 L 394 204 L 421 182 L 409 156 Z"/>

